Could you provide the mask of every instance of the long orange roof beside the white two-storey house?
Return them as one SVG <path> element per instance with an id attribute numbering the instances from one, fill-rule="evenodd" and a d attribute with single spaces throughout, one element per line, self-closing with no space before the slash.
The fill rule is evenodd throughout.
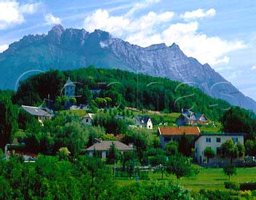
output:
<path id="1" fill-rule="evenodd" d="M 169 135 L 195 135 L 200 134 L 198 127 L 158 127 L 160 135 L 169 136 Z"/>

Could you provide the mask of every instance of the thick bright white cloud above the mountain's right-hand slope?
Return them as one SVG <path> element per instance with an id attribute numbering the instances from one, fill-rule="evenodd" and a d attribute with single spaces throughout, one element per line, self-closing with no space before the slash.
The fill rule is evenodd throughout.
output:
<path id="1" fill-rule="evenodd" d="M 198 22 L 172 24 L 163 31 L 163 41 L 167 45 L 177 43 L 182 51 L 195 57 L 201 63 L 228 63 L 228 52 L 244 48 L 241 41 L 227 41 L 219 37 L 208 37 L 198 32 Z"/>

